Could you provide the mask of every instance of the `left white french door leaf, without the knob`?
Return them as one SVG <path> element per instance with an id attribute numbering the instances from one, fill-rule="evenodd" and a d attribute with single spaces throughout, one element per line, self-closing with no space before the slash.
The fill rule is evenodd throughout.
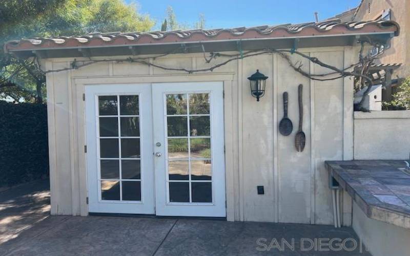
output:
<path id="1" fill-rule="evenodd" d="M 90 212 L 154 214 L 151 85 L 85 91 Z"/>

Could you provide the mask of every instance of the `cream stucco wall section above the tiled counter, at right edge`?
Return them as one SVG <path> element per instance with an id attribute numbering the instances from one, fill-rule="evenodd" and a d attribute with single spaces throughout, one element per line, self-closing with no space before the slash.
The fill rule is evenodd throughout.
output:
<path id="1" fill-rule="evenodd" d="M 354 113 L 357 160 L 403 160 L 410 157 L 410 111 Z"/>

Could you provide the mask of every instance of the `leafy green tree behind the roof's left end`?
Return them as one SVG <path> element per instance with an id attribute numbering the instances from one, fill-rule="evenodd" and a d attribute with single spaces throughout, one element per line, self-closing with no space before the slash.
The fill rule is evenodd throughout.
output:
<path id="1" fill-rule="evenodd" d="M 122 0 L 0 0 L 0 48 L 28 37 L 149 31 L 154 21 Z M 45 76 L 33 59 L 0 50 L 0 99 L 43 102 Z"/>

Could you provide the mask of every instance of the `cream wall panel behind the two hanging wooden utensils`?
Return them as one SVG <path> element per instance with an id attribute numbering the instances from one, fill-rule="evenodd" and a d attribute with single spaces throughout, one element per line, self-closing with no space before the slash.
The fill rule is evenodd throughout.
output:
<path id="1" fill-rule="evenodd" d="M 309 53 L 308 53 L 309 54 Z M 290 55 L 295 63 L 301 61 L 309 72 L 309 60 L 298 55 Z M 283 92 L 289 93 L 288 115 L 293 122 L 293 132 L 289 136 L 278 134 L 278 176 L 279 176 L 279 222 L 310 223 L 311 204 L 311 143 L 310 143 L 310 81 L 296 73 L 288 63 L 278 56 L 277 67 L 278 123 L 283 117 Z M 306 144 L 303 152 L 295 148 L 295 136 L 299 127 L 298 86 L 303 85 L 303 127 Z M 298 212 L 298 214 L 295 214 Z"/>

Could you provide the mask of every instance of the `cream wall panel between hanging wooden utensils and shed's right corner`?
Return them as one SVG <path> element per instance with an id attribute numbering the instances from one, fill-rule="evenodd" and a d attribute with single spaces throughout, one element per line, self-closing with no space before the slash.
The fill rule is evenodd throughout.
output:
<path id="1" fill-rule="evenodd" d="M 325 63 L 342 69 L 343 52 L 312 53 Z M 313 65 L 312 73 L 329 72 Z M 331 224 L 332 197 L 329 174 L 324 166 L 326 160 L 343 159 L 343 80 L 314 81 L 314 154 L 315 161 L 315 216 L 316 224 Z"/>

